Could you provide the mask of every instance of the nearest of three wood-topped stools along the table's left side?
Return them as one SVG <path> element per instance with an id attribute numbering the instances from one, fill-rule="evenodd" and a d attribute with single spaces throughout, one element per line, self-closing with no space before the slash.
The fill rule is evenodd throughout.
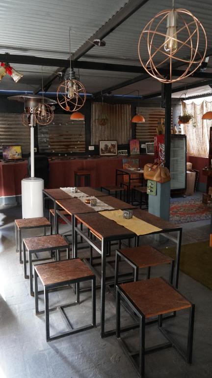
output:
<path id="1" fill-rule="evenodd" d="M 40 278 L 44 286 L 44 298 L 45 298 L 45 311 L 38 309 L 38 283 L 37 279 Z M 80 328 L 73 329 L 70 320 L 63 311 L 63 308 L 79 304 L 79 283 L 84 281 L 92 281 L 92 323 Z M 67 286 L 69 284 L 77 284 L 77 300 L 74 303 L 57 306 L 53 309 L 49 309 L 49 291 L 56 290 L 59 287 Z M 72 335 L 96 326 L 96 277 L 93 272 L 82 262 L 79 258 L 72 260 L 65 260 L 59 262 L 50 262 L 48 264 L 35 265 L 34 267 L 34 287 L 35 287 L 35 314 L 41 314 L 45 312 L 46 317 L 46 340 L 56 340 L 60 337 Z M 50 337 L 50 323 L 49 312 L 53 310 L 59 310 L 65 324 L 68 327 L 68 331 L 61 333 L 60 335 Z"/>

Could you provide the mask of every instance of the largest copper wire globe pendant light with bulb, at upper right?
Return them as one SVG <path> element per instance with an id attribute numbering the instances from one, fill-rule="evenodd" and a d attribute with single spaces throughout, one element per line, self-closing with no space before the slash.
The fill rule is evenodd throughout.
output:
<path id="1" fill-rule="evenodd" d="M 204 45 L 202 55 L 198 51 L 200 41 Z M 138 41 L 141 65 L 161 83 L 174 83 L 193 74 L 205 59 L 206 50 L 207 36 L 202 24 L 188 10 L 175 9 L 174 0 L 172 9 L 162 10 L 148 22 Z M 145 60 L 144 56 L 148 58 Z M 173 63 L 185 66 L 184 72 L 175 78 Z M 165 73 L 160 71 L 164 67 Z"/>

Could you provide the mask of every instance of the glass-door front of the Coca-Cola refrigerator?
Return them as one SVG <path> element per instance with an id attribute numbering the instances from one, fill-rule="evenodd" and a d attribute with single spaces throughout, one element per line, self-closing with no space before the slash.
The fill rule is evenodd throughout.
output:
<path id="1" fill-rule="evenodd" d="M 170 154 L 171 192 L 183 193 L 186 189 L 186 135 L 171 135 Z"/>

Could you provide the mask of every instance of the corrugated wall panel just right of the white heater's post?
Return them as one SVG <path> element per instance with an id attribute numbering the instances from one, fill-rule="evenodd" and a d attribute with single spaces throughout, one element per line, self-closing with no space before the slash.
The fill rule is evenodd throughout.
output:
<path id="1" fill-rule="evenodd" d="M 40 152 L 85 152 L 84 121 L 55 114 L 50 125 L 38 126 L 38 141 Z"/>

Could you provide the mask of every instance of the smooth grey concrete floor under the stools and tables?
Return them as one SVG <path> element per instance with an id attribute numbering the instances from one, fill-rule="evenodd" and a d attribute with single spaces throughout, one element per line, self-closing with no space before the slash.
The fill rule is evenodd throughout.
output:
<path id="1" fill-rule="evenodd" d="M 29 294 L 29 282 L 24 279 L 23 266 L 15 252 L 14 219 L 21 218 L 21 208 L 1 208 L 0 212 L 0 378 L 136 378 L 132 365 L 119 347 L 115 336 L 100 338 L 100 290 L 97 290 L 97 328 L 57 341 L 46 343 L 44 315 L 34 314 L 34 299 Z M 210 221 L 183 224 L 183 243 L 209 239 Z M 61 225 L 60 232 L 66 226 Z M 143 238 L 143 242 L 149 242 Z M 151 238 L 151 243 L 160 246 Z M 85 255 L 86 251 L 79 253 Z M 123 267 L 125 269 L 125 267 Z M 155 269 L 154 275 L 167 270 Z M 212 377 L 212 291 L 182 272 L 180 291 L 196 304 L 193 364 L 187 365 L 174 348 L 146 356 L 146 378 L 204 378 Z M 74 299 L 72 289 L 51 293 L 50 306 Z M 68 310 L 75 326 L 90 322 L 90 292 L 81 293 L 81 304 Z M 43 299 L 40 300 L 40 308 Z M 80 311 L 79 311 L 80 309 Z M 164 322 L 166 328 L 186 343 L 187 313 Z M 65 330 L 60 315 L 51 313 L 51 332 Z M 115 301 L 106 294 L 106 327 L 115 325 Z M 122 310 L 122 324 L 132 318 Z M 124 335 L 136 349 L 137 331 Z M 147 327 L 147 346 L 160 343 L 162 336 L 156 325 Z"/>

